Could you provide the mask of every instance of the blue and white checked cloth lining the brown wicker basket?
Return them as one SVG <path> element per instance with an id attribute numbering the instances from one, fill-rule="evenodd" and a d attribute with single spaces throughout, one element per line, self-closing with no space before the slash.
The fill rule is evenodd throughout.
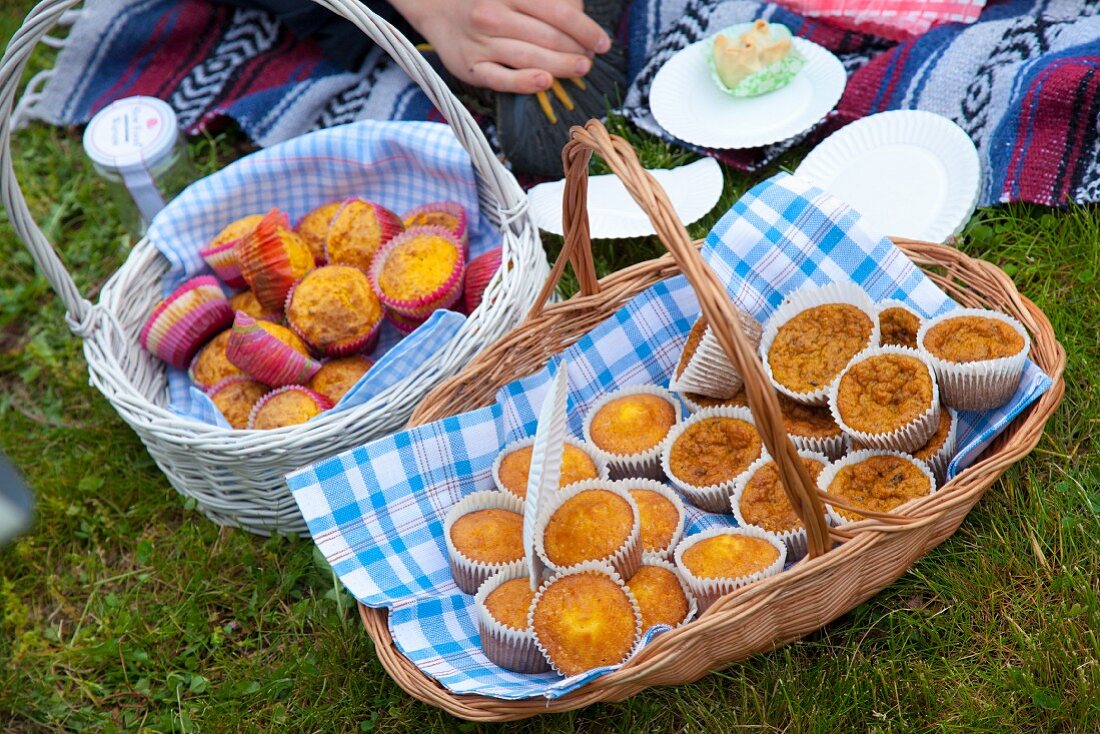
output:
<path id="1" fill-rule="evenodd" d="M 707 235 L 703 256 L 737 304 L 761 320 L 801 285 L 848 280 L 876 300 L 897 298 L 925 316 L 956 307 L 889 240 L 865 229 L 850 207 L 785 174 L 746 194 Z M 603 393 L 667 385 L 697 315 L 694 292 L 678 276 L 650 287 L 568 349 L 573 435 L 581 436 L 583 415 Z M 455 693 L 557 698 L 612 669 L 561 678 L 493 665 L 481 651 L 473 598 L 454 585 L 447 560 L 447 511 L 471 492 L 492 489 L 496 453 L 534 435 L 557 370 L 552 362 L 506 385 L 492 406 L 395 434 L 287 478 L 314 540 L 349 591 L 369 606 L 389 607 L 398 649 Z M 1008 405 L 960 414 L 961 448 L 950 474 L 1049 386 L 1028 362 Z M 735 523 L 689 507 L 688 535 L 719 524 Z"/>

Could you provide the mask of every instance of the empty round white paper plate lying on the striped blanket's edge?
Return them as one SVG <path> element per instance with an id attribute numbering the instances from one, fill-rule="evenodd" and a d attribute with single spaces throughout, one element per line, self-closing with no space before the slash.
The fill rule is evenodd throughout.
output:
<path id="1" fill-rule="evenodd" d="M 958 234 L 981 189 L 970 136 L 919 110 L 880 112 L 842 128 L 794 175 L 850 204 L 881 233 L 927 242 Z"/>

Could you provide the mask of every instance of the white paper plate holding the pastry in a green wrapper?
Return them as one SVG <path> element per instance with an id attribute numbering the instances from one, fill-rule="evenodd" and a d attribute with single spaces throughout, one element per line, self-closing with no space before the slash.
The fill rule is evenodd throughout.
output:
<path id="1" fill-rule="evenodd" d="M 711 78 L 714 41 L 688 46 L 657 72 L 649 108 L 670 135 L 703 147 L 757 147 L 809 130 L 828 114 L 847 83 L 840 59 L 805 39 L 793 39 L 806 65 L 781 89 L 730 97 Z"/>

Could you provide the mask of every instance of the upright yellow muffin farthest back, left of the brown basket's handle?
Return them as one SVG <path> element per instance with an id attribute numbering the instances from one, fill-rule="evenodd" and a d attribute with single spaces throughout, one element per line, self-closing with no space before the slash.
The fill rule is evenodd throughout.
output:
<path id="1" fill-rule="evenodd" d="M 679 421 L 680 404 L 672 393 L 637 385 L 596 401 L 584 417 L 584 438 L 613 478 L 660 479 L 661 445 Z"/>

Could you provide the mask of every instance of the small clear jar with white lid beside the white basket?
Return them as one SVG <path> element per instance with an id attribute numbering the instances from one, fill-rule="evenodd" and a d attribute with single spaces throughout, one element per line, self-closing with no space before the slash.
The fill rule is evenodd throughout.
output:
<path id="1" fill-rule="evenodd" d="M 84 131 L 84 150 L 135 237 L 197 177 L 175 111 L 155 97 L 125 97 L 101 109 Z"/>

